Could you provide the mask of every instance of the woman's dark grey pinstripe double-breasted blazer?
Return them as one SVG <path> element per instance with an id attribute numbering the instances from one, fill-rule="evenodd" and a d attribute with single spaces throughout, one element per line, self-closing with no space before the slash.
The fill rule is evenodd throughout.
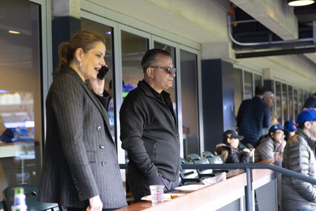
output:
<path id="1" fill-rule="evenodd" d="M 86 208 L 127 206 L 107 114 L 110 95 L 95 94 L 71 67 L 60 70 L 46 98 L 46 142 L 38 200 Z"/>

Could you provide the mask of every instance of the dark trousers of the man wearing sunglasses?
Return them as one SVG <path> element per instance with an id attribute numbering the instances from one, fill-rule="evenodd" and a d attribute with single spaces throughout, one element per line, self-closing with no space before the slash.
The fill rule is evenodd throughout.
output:
<path id="1" fill-rule="evenodd" d="M 135 182 L 129 182 L 134 202 L 140 202 L 141 198 L 150 195 L 149 185 L 164 185 L 165 188 L 163 190 L 164 193 L 168 193 L 173 191 L 176 187 L 179 186 L 179 174 L 176 176 L 176 180 L 170 181 L 160 173 L 154 178 L 141 178 Z"/>

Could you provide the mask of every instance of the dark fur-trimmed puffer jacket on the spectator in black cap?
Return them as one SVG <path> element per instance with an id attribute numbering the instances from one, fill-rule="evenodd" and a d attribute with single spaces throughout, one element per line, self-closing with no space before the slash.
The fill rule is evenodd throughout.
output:
<path id="1" fill-rule="evenodd" d="M 216 145 L 217 154 L 221 155 L 224 163 L 250 163 L 251 157 L 249 152 L 242 152 L 226 144 Z"/>

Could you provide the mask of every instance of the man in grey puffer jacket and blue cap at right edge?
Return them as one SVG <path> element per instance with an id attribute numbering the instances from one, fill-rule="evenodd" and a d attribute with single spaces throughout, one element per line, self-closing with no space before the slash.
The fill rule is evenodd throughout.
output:
<path id="1" fill-rule="evenodd" d="M 316 178 L 316 109 L 303 109 L 297 116 L 297 123 L 295 135 L 285 145 L 282 167 Z M 315 185 L 282 175 L 282 209 L 316 210 Z"/>

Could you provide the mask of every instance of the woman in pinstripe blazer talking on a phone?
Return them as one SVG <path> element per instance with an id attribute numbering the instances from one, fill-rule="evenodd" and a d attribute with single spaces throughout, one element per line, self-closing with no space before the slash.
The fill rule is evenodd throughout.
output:
<path id="1" fill-rule="evenodd" d="M 46 98 L 46 142 L 38 200 L 67 210 L 127 205 L 107 114 L 110 94 L 98 71 L 104 37 L 80 31 L 60 44 L 60 66 Z M 92 90 L 85 81 L 89 80 Z"/>

